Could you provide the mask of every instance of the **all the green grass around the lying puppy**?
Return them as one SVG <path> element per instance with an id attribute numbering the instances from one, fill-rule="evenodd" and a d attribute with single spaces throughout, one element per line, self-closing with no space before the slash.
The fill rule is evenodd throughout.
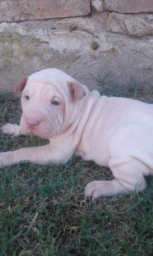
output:
<path id="1" fill-rule="evenodd" d="M 108 95 L 153 100 L 153 88 L 138 90 L 135 81 L 122 88 L 104 87 Z M 0 93 L 1 125 L 19 122 L 20 101 Z M 0 151 L 46 141 L 0 134 Z M 0 170 L 0 255 L 152 255 L 153 179 L 131 196 L 84 197 L 85 185 L 95 179 L 112 179 L 109 169 L 73 157 L 65 165 L 20 163 Z"/>

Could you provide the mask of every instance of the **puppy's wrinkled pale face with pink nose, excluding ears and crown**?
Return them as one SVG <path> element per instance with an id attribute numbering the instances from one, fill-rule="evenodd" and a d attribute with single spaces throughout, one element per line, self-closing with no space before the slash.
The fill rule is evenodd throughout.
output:
<path id="1" fill-rule="evenodd" d="M 64 101 L 62 95 L 52 85 L 48 88 L 48 84 L 37 82 L 37 88 L 38 91 L 35 90 L 33 82 L 30 89 L 23 90 L 20 130 L 22 134 L 35 134 L 49 139 L 62 129 Z M 57 101 L 58 105 L 53 104 L 53 101 Z"/>

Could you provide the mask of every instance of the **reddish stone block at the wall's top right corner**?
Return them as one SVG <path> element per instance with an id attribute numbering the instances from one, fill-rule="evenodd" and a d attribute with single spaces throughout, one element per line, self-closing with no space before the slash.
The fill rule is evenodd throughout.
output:
<path id="1" fill-rule="evenodd" d="M 152 0 L 104 0 L 104 9 L 120 13 L 153 12 Z"/>

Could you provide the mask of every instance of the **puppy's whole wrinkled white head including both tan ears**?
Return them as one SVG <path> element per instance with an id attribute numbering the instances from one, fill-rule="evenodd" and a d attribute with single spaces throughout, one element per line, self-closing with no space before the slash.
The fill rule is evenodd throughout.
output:
<path id="1" fill-rule="evenodd" d="M 21 132 L 48 139 L 75 120 L 88 89 L 60 70 L 47 69 L 24 77 L 15 92 L 22 92 Z"/>

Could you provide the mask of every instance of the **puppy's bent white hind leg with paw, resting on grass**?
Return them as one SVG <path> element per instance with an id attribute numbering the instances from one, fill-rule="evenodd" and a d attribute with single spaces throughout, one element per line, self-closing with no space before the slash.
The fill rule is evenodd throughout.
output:
<path id="1" fill-rule="evenodd" d="M 112 181 L 92 181 L 85 187 L 85 195 L 97 199 L 119 194 L 131 194 L 145 188 L 143 168 L 147 168 L 138 160 L 127 158 L 109 160 L 109 166 L 115 177 Z"/>

